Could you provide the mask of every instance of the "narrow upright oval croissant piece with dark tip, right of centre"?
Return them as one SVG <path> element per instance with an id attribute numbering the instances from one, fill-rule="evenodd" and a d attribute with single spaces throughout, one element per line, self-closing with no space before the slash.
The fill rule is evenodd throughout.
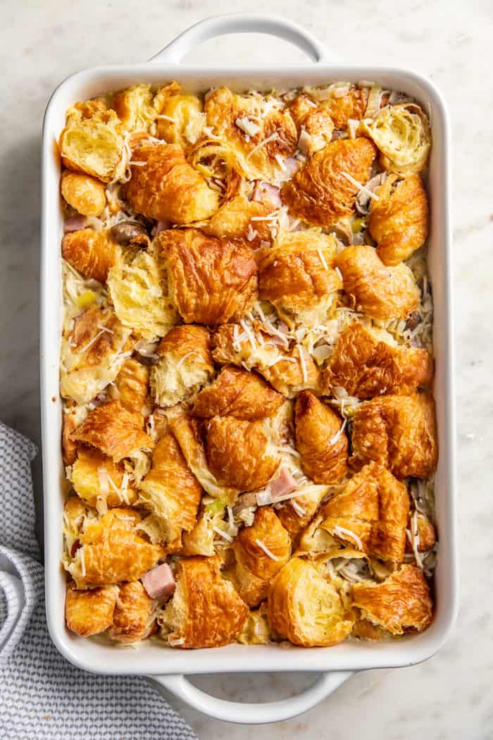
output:
<path id="1" fill-rule="evenodd" d="M 296 448 L 305 474 L 316 483 L 336 483 L 347 473 L 347 437 L 342 419 L 309 391 L 295 406 Z"/>

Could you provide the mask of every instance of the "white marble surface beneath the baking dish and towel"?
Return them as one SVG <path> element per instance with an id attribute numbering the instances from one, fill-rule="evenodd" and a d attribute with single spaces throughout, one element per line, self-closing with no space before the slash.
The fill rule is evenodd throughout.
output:
<path id="1" fill-rule="evenodd" d="M 39 140 L 50 92 L 95 64 L 141 61 L 188 25 L 234 10 L 304 24 L 341 57 L 414 67 L 441 87 L 452 113 L 461 608 L 448 645 L 424 665 L 350 679 L 299 719 L 256 729 L 180 706 L 201 740 L 486 740 L 493 736 L 493 9 L 491 0 L 4 0 L 0 31 L 0 419 L 39 440 Z M 256 37 L 254 58 L 299 61 Z M 244 37 L 209 41 L 190 59 L 248 63 Z M 203 676 L 217 696 L 290 696 L 312 676 Z M 178 702 L 173 701 L 175 705 Z M 122 728 L 124 736 L 124 730 Z"/>

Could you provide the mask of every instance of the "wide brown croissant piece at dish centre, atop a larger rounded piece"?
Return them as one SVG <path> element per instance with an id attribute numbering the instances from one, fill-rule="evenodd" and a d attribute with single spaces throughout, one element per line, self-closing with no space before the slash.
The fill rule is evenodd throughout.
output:
<path id="1" fill-rule="evenodd" d="M 256 373 L 228 365 L 197 394 L 191 414 L 203 419 L 228 416 L 254 421 L 273 416 L 284 401 Z"/>

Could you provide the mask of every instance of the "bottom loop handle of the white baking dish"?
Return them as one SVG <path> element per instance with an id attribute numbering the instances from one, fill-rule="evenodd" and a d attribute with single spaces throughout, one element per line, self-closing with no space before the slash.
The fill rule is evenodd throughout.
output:
<path id="1" fill-rule="evenodd" d="M 352 675 L 351 671 L 322 673 L 314 684 L 297 696 L 267 704 L 243 704 L 228 702 L 210 696 L 191 684 L 186 676 L 149 676 L 150 679 L 164 686 L 174 696 L 190 704 L 194 709 L 223 722 L 237 724 L 265 724 L 290 719 L 322 702 L 326 696 L 336 690 Z"/>

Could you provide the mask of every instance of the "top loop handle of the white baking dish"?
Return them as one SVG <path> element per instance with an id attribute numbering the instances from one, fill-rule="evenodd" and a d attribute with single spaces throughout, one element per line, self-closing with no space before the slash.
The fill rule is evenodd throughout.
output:
<path id="1" fill-rule="evenodd" d="M 256 13 L 226 13 L 223 16 L 211 16 L 199 21 L 180 33 L 180 36 L 152 56 L 149 61 L 180 64 L 182 58 L 197 44 L 225 33 L 267 33 L 294 44 L 317 63 L 337 61 L 334 55 L 328 53 L 324 44 L 293 21 Z"/>

